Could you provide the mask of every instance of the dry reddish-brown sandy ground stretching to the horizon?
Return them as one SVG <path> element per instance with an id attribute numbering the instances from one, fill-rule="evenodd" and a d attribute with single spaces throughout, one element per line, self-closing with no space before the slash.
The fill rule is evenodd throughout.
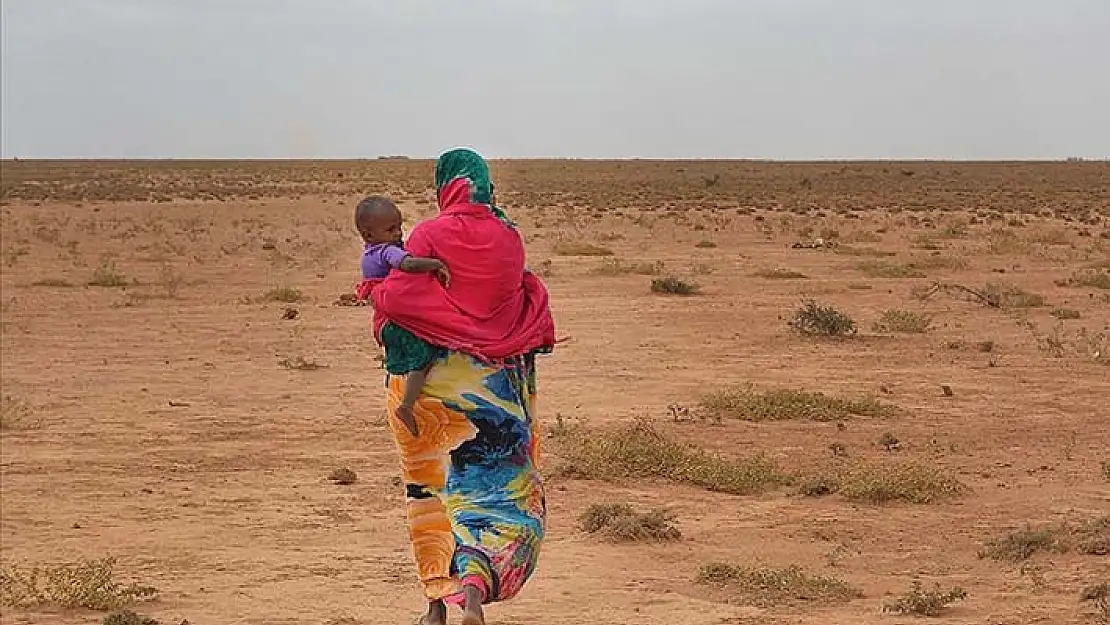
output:
<path id="1" fill-rule="evenodd" d="M 967 592 L 938 623 L 1096 622 L 1080 593 L 1110 579 L 1104 550 L 979 552 L 1027 524 L 1110 511 L 1110 165 L 507 162 L 495 178 L 573 336 L 542 363 L 545 426 L 566 430 L 561 415 L 604 436 L 652 420 L 797 481 L 733 495 L 680 478 L 576 480 L 559 467 L 573 438 L 553 434 L 541 567 L 492 624 L 910 623 L 881 608 L 916 579 Z M 163 623 L 411 623 L 421 599 L 370 313 L 333 303 L 357 278 L 357 196 L 390 193 L 418 220 L 430 180 L 431 163 L 403 160 L 4 162 L 0 565 L 115 557 L 121 582 L 159 589 L 134 608 Z M 817 238 L 838 245 L 793 246 Z M 654 294 L 652 273 L 700 294 Z M 1005 283 L 1045 303 L 991 308 L 930 294 L 936 282 Z M 294 289 L 302 301 L 274 301 Z M 793 333 L 806 299 L 859 333 Z M 299 316 L 283 319 L 286 306 Z M 872 329 L 887 310 L 931 326 Z M 302 362 L 320 366 L 287 366 Z M 706 393 L 743 384 L 874 396 L 895 412 L 703 417 Z M 899 444 L 878 443 L 888 432 Z M 910 462 L 965 490 L 922 504 L 799 494 L 814 474 Z M 344 466 L 357 482 L 331 483 Z M 682 540 L 578 528 L 587 505 L 625 502 L 665 506 Z M 799 565 L 860 596 L 748 601 L 698 583 L 709 563 Z"/>

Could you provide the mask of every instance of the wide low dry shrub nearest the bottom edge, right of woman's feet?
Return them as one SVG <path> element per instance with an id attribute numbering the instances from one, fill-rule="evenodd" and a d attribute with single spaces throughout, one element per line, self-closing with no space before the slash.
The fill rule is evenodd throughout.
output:
<path id="1" fill-rule="evenodd" d="M 848 603 L 864 596 L 844 579 L 813 575 L 797 565 L 773 568 L 712 563 L 702 567 L 697 581 L 725 588 L 739 603 L 756 607 L 773 607 L 795 601 Z"/>

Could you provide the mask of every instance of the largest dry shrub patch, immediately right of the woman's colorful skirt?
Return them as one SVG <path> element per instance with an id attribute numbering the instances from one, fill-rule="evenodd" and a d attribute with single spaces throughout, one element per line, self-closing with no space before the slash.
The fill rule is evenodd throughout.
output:
<path id="1" fill-rule="evenodd" d="M 582 480 L 662 477 L 709 491 L 748 495 L 789 484 L 763 456 L 728 460 L 675 441 L 649 423 L 602 433 L 568 429 L 558 441 L 558 473 Z"/>

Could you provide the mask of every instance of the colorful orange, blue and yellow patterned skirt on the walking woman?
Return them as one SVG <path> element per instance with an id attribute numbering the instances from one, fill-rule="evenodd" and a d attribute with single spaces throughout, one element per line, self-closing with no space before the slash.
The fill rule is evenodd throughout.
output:
<path id="1" fill-rule="evenodd" d="M 494 366 L 444 352 L 414 407 L 415 437 L 395 412 L 404 377 L 386 387 L 424 594 L 460 603 L 470 585 L 483 603 L 514 597 L 535 571 L 547 515 L 534 356 Z"/>

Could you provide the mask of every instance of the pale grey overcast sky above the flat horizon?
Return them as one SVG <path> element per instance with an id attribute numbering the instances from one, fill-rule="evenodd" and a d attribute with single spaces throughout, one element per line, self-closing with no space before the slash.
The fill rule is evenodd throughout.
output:
<path id="1" fill-rule="evenodd" d="M 1110 0 L 0 0 L 4 158 L 1110 157 Z"/>

